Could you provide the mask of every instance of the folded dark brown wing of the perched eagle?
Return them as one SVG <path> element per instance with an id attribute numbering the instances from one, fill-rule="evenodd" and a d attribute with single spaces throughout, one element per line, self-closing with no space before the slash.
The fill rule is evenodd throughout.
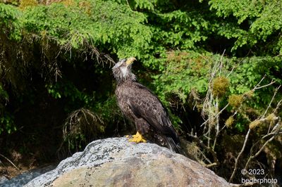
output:
<path id="1" fill-rule="evenodd" d="M 164 106 L 152 91 L 142 84 L 133 82 L 133 85 L 128 88 L 128 93 L 127 103 L 136 117 L 142 117 L 156 131 L 173 138 L 176 143 L 179 142 L 176 130 L 173 128 Z"/>

